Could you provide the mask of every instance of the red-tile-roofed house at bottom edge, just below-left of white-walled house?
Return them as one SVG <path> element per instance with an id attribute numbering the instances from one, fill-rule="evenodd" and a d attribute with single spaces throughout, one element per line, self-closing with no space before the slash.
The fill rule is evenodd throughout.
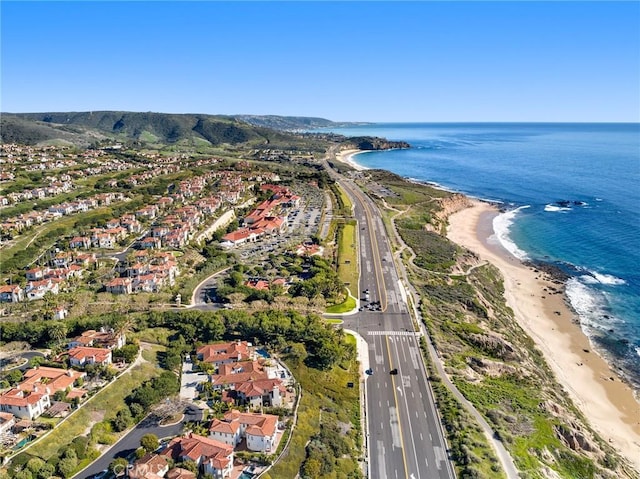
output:
<path id="1" fill-rule="evenodd" d="M 193 461 L 216 479 L 230 477 L 233 470 L 233 447 L 193 433 L 173 439 L 161 455 Z"/>

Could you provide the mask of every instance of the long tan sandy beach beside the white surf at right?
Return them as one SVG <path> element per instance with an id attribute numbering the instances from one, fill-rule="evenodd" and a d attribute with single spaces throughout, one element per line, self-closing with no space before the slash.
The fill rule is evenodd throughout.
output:
<path id="1" fill-rule="evenodd" d="M 591 426 L 640 470 L 640 403 L 632 389 L 593 351 L 558 286 L 523 265 L 493 235 L 493 206 L 473 206 L 449 217 L 448 238 L 497 266 L 516 320 L 533 338 L 559 382 Z"/>

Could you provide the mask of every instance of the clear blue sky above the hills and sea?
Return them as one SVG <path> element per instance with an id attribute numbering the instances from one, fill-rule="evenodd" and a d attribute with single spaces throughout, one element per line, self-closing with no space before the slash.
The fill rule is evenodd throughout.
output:
<path id="1" fill-rule="evenodd" d="M 0 2 L 6 112 L 640 121 L 640 2 Z"/>

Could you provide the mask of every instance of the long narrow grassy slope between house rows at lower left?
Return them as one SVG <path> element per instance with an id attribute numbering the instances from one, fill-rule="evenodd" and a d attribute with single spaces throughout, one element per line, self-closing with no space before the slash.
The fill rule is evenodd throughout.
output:
<path id="1" fill-rule="evenodd" d="M 145 356 L 152 359 L 135 366 L 131 371 L 120 376 L 115 382 L 102 389 L 83 407 L 75 411 L 65 422 L 58 425 L 49 435 L 35 443 L 24 452 L 48 459 L 62 447 L 69 444 L 75 437 L 89 433 L 92 424 L 104 419 L 115 417 L 117 411 L 124 407 L 124 398 L 131 391 L 160 372 L 155 361 L 155 354 L 161 346 L 153 346 L 145 352 Z"/>

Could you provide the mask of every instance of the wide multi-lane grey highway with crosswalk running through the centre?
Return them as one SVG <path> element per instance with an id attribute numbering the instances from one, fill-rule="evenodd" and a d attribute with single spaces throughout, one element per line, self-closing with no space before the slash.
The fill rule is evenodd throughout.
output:
<path id="1" fill-rule="evenodd" d="M 344 327 L 367 341 L 372 374 L 367 381 L 369 474 L 373 479 L 455 478 L 427 381 L 406 298 L 375 204 L 348 180 L 359 225 L 360 297 L 364 310 Z M 364 290 L 369 290 L 369 301 Z M 371 303 L 380 310 L 370 310 Z M 391 374 L 397 370 L 397 374 Z"/>

